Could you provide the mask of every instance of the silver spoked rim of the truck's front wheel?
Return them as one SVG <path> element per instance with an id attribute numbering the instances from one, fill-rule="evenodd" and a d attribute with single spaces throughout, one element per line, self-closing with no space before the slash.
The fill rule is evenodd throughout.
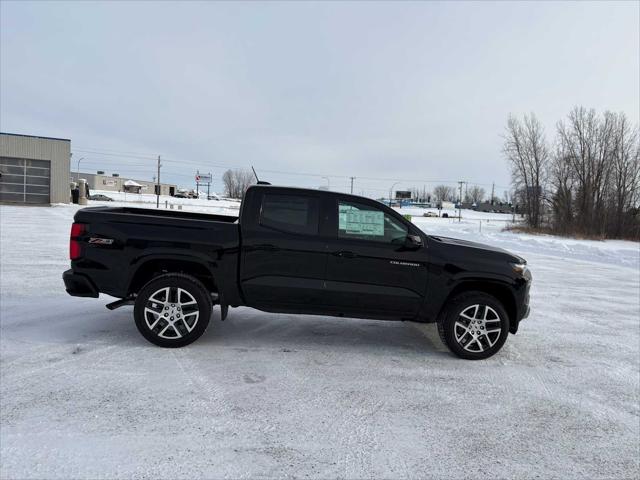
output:
<path id="1" fill-rule="evenodd" d="M 471 305 L 458 315 L 453 333 L 468 352 L 482 353 L 493 347 L 502 333 L 500 315 L 489 305 Z"/>

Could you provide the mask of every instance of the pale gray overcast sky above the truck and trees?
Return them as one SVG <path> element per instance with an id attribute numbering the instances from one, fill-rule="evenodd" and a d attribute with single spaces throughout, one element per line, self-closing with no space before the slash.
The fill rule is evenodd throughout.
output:
<path id="1" fill-rule="evenodd" d="M 253 164 L 381 196 L 395 179 L 509 184 L 508 114 L 639 117 L 638 2 L 0 4 L 0 129 L 72 140 L 82 170 Z M 72 167 L 75 169 L 75 166 Z M 385 180 L 376 180 L 378 178 Z M 426 184 L 427 188 L 433 184 Z"/>

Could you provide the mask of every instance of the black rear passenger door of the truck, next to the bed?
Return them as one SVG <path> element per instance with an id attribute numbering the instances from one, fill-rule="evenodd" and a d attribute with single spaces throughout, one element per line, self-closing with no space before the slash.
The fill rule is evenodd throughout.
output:
<path id="1" fill-rule="evenodd" d="M 323 303 L 327 256 L 320 235 L 321 196 L 255 187 L 250 194 L 242 216 L 240 267 L 247 304 L 313 310 Z"/>

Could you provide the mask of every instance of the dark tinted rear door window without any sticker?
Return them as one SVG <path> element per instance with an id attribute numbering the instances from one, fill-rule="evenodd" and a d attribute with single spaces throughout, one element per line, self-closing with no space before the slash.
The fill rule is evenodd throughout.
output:
<path id="1" fill-rule="evenodd" d="M 318 234 L 318 199 L 301 195 L 262 197 L 260 225 L 274 230 L 304 235 Z"/>

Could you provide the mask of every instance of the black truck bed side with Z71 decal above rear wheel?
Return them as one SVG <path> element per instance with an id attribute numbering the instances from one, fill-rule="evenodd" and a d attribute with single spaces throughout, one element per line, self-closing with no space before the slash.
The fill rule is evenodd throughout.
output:
<path id="1" fill-rule="evenodd" d="M 104 206 L 78 210 L 74 221 L 84 225 L 84 233 L 82 258 L 72 262 L 73 270 L 90 278 L 99 292 L 124 298 L 140 287 L 140 275 L 185 259 L 209 277 L 218 272 L 221 279 L 233 278 L 229 293 L 237 291 L 238 217 Z"/>

